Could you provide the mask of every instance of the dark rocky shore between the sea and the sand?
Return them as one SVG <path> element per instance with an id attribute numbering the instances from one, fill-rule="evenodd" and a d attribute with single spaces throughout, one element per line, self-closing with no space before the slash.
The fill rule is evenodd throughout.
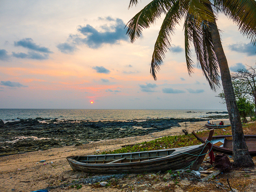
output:
<path id="1" fill-rule="evenodd" d="M 92 141 L 141 136 L 180 127 L 181 122 L 206 121 L 201 118 L 151 119 L 144 121 L 73 121 L 58 119 L 19 119 L 0 121 L 0 156 Z"/>

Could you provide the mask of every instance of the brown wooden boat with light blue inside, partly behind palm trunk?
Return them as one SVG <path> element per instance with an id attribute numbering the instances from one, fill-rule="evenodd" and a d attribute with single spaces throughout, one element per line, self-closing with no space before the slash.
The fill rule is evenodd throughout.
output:
<path id="1" fill-rule="evenodd" d="M 206 137 L 201 138 L 194 131 L 192 132 L 192 134 L 196 137 L 197 140 L 201 141 L 202 143 L 205 143 Z M 251 155 L 256 155 L 256 135 L 244 135 L 244 139 L 248 147 L 249 153 Z M 232 142 L 232 135 L 212 136 L 213 150 L 222 153 L 233 153 Z"/>

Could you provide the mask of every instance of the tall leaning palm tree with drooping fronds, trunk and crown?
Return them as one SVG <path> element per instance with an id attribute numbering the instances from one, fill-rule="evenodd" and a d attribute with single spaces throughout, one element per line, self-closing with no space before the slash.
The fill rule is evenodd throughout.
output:
<path id="1" fill-rule="evenodd" d="M 130 0 L 129 8 L 138 0 Z M 244 141 L 239 111 L 232 87 L 228 62 L 222 48 L 219 29 L 216 24 L 217 13 L 224 13 L 239 26 L 244 36 L 256 44 L 256 2 L 255 0 L 153 0 L 137 13 L 126 25 L 127 35 L 133 43 L 140 37 L 143 28 L 149 28 L 156 19 L 165 14 L 159 35 L 156 39 L 151 61 L 150 73 L 156 80 L 165 53 L 171 46 L 171 36 L 175 26 L 184 19 L 185 56 L 188 73 L 193 73 L 191 44 L 195 47 L 197 63 L 201 65 L 204 76 L 211 89 L 220 87 L 219 72 L 233 136 L 234 167 L 254 166 Z"/>

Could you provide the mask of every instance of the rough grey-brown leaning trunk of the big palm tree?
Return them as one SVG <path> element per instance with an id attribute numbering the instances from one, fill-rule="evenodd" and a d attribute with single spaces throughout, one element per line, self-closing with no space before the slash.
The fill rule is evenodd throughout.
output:
<path id="1" fill-rule="evenodd" d="M 254 163 L 244 140 L 243 127 L 236 105 L 236 97 L 232 86 L 228 61 L 222 48 L 220 34 L 215 20 L 210 23 L 210 30 L 214 51 L 220 67 L 221 81 L 232 129 L 234 160 L 232 167 L 252 167 Z"/>

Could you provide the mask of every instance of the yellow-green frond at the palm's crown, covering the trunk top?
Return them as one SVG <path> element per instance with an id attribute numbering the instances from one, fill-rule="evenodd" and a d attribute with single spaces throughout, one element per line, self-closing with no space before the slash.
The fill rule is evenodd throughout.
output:
<path id="1" fill-rule="evenodd" d="M 214 15 L 209 9 L 209 0 L 180 0 L 180 4 L 188 14 L 194 15 L 197 20 L 195 24 L 197 26 L 201 25 L 202 21 L 214 21 Z"/>

